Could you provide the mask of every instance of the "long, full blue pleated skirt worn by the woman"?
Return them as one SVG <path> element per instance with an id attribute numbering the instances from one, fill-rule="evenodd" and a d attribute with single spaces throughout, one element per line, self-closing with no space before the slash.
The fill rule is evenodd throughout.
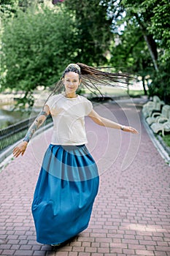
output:
<path id="1" fill-rule="evenodd" d="M 36 241 L 60 244 L 88 227 L 98 169 L 85 145 L 50 144 L 34 192 Z"/>

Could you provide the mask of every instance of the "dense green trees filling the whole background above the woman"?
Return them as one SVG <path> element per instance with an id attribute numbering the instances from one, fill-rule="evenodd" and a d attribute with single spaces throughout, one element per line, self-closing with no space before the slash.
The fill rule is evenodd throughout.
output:
<path id="1" fill-rule="evenodd" d="M 64 0 L 34 9 L 40 2 L 1 0 L 1 89 L 25 91 L 32 105 L 36 86 L 55 83 L 69 62 L 109 63 L 150 77 L 150 94 L 170 102 L 168 0 Z"/>

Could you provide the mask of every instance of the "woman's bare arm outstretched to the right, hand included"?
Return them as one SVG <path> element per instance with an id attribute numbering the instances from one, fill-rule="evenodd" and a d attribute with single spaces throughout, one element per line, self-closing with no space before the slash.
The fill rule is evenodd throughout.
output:
<path id="1" fill-rule="evenodd" d="M 133 127 L 126 127 L 122 124 L 117 124 L 114 121 L 111 121 L 107 118 L 104 118 L 102 116 L 99 116 L 98 113 L 96 113 L 95 110 L 92 110 L 88 116 L 98 125 L 101 125 L 103 127 L 109 127 L 109 128 L 114 128 L 114 129 L 121 129 L 124 132 L 131 132 L 134 134 L 139 133 L 136 129 Z"/>

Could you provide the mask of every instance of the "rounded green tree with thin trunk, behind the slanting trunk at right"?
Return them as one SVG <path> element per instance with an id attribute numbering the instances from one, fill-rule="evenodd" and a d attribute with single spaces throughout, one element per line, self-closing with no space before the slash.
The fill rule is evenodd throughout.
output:
<path id="1" fill-rule="evenodd" d="M 152 59 L 139 27 L 128 23 L 123 34 L 117 37 L 117 43 L 111 48 L 111 53 L 110 64 L 117 72 L 125 69 L 126 72 L 136 75 L 136 79 L 141 76 L 144 94 L 147 95 L 145 83 L 147 76 L 152 72 Z"/>

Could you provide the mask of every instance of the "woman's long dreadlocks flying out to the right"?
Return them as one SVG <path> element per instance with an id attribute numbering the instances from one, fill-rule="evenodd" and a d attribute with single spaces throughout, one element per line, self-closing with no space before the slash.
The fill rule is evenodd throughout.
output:
<path id="1" fill-rule="evenodd" d="M 69 64 L 63 72 L 61 79 L 58 83 L 55 84 L 55 87 L 52 93 L 49 95 L 47 99 L 49 99 L 52 95 L 54 95 L 57 91 L 61 91 L 63 87 L 63 78 L 68 72 L 75 72 L 79 75 L 79 78 L 82 79 L 82 85 L 85 86 L 89 91 L 96 94 L 94 89 L 98 91 L 98 93 L 103 97 L 103 94 L 98 89 L 98 86 L 114 86 L 114 87 L 126 87 L 129 80 L 132 79 L 131 75 L 126 73 L 119 72 L 106 72 L 100 69 L 107 69 L 106 67 L 90 67 L 86 64 L 77 63 L 77 64 Z M 121 83 L 121 85 L 117 85 L 117 83 Z M 124 84 L 124 86 L 123 86 Z M 98 94 L 96 94 L 98 96 Z M 45 101 L 47 102 L 47 100 Z"/>

